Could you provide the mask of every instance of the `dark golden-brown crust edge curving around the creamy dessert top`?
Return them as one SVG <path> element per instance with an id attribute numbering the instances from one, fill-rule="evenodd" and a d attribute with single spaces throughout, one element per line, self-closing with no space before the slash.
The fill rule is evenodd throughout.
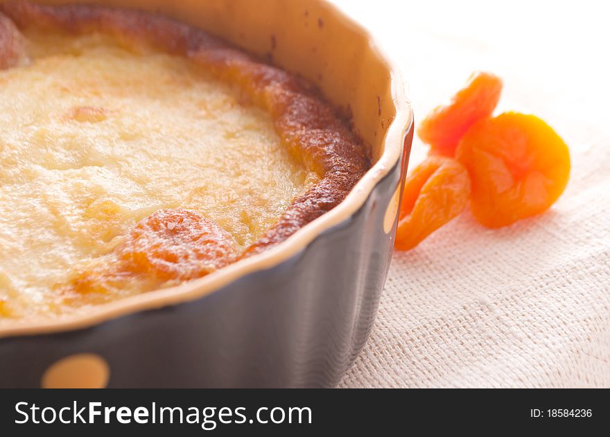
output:
<path id="1" fill-rule="evenodd" d="M 279 221 L 242 257 L 281 243 L 336 207 L 369 169 L 364 146 L 324 103 L 315 86 L 198 28 L 150 12 L 100 6 L 40 6 L 9 1 L 0 4 L 0 12 L 19 28 L 35 25 L 75 34 L 100 31 L 134 49 L 146 44 L 184 55 L 218 78 L 238 85 L 245 96 L 270 113 L 290 153 L 319 173 L 321 180 L 295 198 Z M 0 68 L 6 26 L 1 20 L 0 15 Z"/>

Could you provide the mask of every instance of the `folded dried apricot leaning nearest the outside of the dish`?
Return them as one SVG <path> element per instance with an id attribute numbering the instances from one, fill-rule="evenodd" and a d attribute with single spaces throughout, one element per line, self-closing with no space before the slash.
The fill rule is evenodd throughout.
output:
<path id="1" fill-rule="evenodd" d="M 405 182 L 394 246 L 415 248 L 468 204 L 470 179 L 458 161 L 430 156 Z"/>

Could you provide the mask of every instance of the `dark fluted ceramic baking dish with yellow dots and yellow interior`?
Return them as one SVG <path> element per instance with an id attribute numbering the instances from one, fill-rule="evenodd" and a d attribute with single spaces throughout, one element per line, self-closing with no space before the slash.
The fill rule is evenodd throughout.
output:
<path id="1" fill-rule="evenodd" d="M 392 255 L 412 140 L 398 72 L 323 0 L 82 3 L 159 11 L 313 80 L 352 115 L 374 166 L 261 255 L 85 316 L 1 329 L 0 387 L 333 386 L 367 339 Z"/>

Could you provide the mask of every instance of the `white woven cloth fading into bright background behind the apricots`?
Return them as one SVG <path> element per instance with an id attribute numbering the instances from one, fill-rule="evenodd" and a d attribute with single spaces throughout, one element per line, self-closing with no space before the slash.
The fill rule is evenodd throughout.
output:
<path id="1" fill-rule="evenodd" d="M 397 252 L 369 342 L 339 386 L 610 387 L 603 2 L 336 3 L 399 64 L 416 121 L 471 71 L 493 71 L 505 80 L 498 110 L 545 119 L 573 165 L 566 192 L 543 216 L 487 230 L 467 212 Z M 411 169 L 426 152 L 416 139 Z"/>

